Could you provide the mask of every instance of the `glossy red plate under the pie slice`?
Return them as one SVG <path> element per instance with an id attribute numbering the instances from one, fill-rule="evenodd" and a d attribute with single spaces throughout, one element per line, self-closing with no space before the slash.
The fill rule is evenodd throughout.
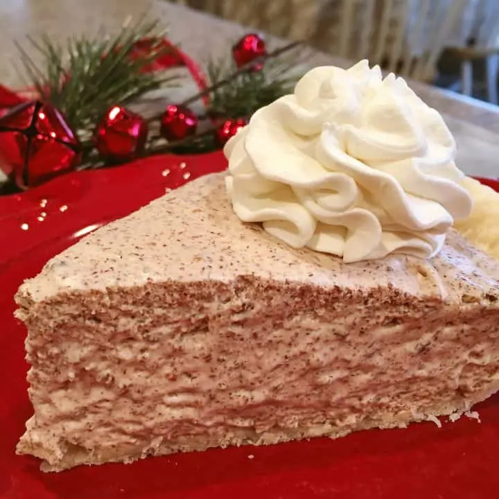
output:
<path id="1" fill-rule="evenodd" d="M 0 198 L 0 498 L 496 498 L 499 396 L 478 405 L 481 422 L 417 423 L 338 440 L 208 450 L 134 464 L 81 466 L 44 474 L 15 455 L 31 408 L 24 326 L 12 316 L 21 281 L 96 227 L 167 189 L 225 168 L 221 153 L 161 156 L 120 168 L 74 173 Z M 499 190 L 499 182 L 487 181 Z"/>

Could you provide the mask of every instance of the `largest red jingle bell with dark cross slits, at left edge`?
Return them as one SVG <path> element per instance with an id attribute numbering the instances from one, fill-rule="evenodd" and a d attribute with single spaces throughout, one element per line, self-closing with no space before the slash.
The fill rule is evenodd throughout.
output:
<path id="1" fill-rule="evenodd" d="M 80 142 L 48 103 L 19 104 L 0 118 L 0 168 L 21 189 L 67 173 L 81 159 Z"/>

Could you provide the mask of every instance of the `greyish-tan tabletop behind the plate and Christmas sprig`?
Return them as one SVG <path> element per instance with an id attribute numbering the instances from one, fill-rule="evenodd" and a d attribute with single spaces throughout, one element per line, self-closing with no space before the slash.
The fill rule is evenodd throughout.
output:
<path id="1" fill-rule="evenodd" d="M 26 35 L 49 33 L 63 43 L 71 35 L 116 32 L 125 19 L 144 12 L 161 19 L 169 27 L 170 39 L 200 63 L 212 56 L 229 57 L 231 43 L 247 31 L 164 0 L 0 0 L 0 82 L 23 85 L 15 71 L 19 62 L 14 42 L 23 43 Z M 315 53 L 307 64 L 346 63 Z M 499 107 L 417 82 L 411 86 L 444 115 L 456 137 L 459 168 L 469 175 L 499 177 Z"/>

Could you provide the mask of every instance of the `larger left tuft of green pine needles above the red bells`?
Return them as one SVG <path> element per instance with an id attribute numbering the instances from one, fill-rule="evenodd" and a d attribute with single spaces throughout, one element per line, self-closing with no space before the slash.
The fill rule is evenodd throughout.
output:
<path id="1" fill-rule="evenodd" d="M 171 73 L 166 76 L 143 71 L 170 49 L 153 43 L 150 53 L 130 57 L 139 40 L 164 37 L 157 24 L 139 19 L 114 37 L 74 37 L 64 48 L 46 36 L 40 40 L 28 37 L 44 63 L 39 67 L 18 46 L 21 62 L 41 98 L 57 107 L 73 129 L 85 130 L 94 127 L 110 105 L 126 105 L 148 91 L 173 85 L 177 76 Z"/>

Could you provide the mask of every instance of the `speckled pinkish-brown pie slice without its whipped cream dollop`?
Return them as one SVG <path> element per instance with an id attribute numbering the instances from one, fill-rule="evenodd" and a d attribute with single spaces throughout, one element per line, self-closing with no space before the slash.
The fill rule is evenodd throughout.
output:
<path id="1" fill-rule="evenodd" d="M 499 389 L 499 268 L 457 233 L 430 262 L 347 264 L 241 224 L 223 195 L 220 175 L 193 182 L 96 231 L 21 288 L 35 414 L 19 452 L 58 471 L 338 437 L 464 412 Z M 153 246 L 144 278 L 123 238 L 165 210 L 187 211 L 206 237 L 176 241 L 176 227 L 161 229 L 170 279 L 150 277 L 165 265 Z M 98 259 L 104 247 L 110 260 Z M 245 272 L 253 259 L 256 272 Z M 113 274 L 116 260 L 130 265 Z M 194 279 L 195 265 L 211 265 L 211 278 Z M 119 286 L 130 274 L 137 282 Z"/>

